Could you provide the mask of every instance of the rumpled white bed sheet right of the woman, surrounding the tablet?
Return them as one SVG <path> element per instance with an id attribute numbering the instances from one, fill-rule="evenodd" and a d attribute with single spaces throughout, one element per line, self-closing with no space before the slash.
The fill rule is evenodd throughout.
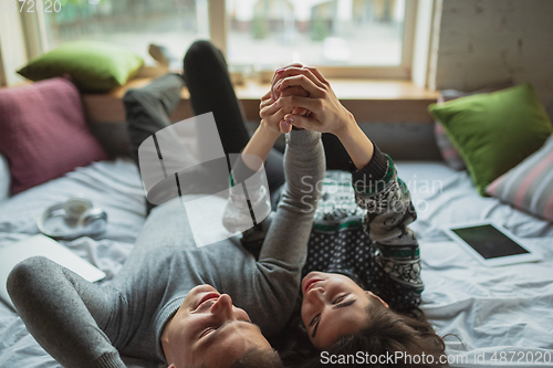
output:
<path id="1" fill-rule="evenodd" d="M 467 171 L 440 162 L 398 162 L 397 170 L 418 214 L 421 308 L 439 335 L 458 337 L 446 337 L 451 365 L 553 367 L 553 224 L 479 196 Z M 477 220 L 502 224 L 543 261 L 486 267 L 440 230 Z"/>

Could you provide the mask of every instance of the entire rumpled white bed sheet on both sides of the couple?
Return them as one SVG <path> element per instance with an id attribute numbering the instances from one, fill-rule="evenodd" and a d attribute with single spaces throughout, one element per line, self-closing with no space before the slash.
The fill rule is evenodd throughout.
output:
<path id="1" fill-rule="evenodd" d="M 467 172 L 440 162 L 397 162 L 418 211 L 413 229 L 421 241 L 422 309 L 446 337 L 453 366 L 553 367 L 553 361 L 528 362 L 553 355 L 553 225 L 492 198 L 480 197 Z M 113 277 L 131 252 L 144 222 L 144 192 L 134 164 L 103 161 L 20 193 L 0 203 L 0 246 L 38 232 L 36 217 L 44 208 L 71 194 L 84 194 L 109 217 L 102 240 L 80 238 L 66 243 Z M 544 260 L 486 269 L 449 242 L 440 225 L 491 219 L 503 224 Z M 108 282 L 108 280 L 107 280 Z M 500 360 L 501 351 L 529 353 L 522 361 Z M 481 359 L 486 353 L 484 359 Z M 495 353 L 497 360 L 493 360 Z M 552 357 L 553 359 L 553 357 Z M 517 362 L 518 361 L 518 362 Z M 59 365 L 34 341 L 22 320 L 0 302 L 0 367 L 53 368 Z M 155 364 L 126 359 L 129 367 Z"/>

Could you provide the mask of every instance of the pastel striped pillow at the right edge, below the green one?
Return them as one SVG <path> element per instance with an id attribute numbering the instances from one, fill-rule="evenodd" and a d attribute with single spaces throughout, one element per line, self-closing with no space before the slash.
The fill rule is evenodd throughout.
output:
<path id="1" fill-rule="evenodd" d="M 553 135 L 542 148 L 489 185 L 486 192 L 553 222 Z"/>

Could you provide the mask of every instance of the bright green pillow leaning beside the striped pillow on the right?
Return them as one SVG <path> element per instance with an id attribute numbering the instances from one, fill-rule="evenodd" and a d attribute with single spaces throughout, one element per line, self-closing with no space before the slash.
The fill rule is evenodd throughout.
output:
<path id="1" fill-rule="evenodd" d="M 432 104 L 428 111 L 444 125 L 481 196 L 553 132 L 530 84 Z"/>

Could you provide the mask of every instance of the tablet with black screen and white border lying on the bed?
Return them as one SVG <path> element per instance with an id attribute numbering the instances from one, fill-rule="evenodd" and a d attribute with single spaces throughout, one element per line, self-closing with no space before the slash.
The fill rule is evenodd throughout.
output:
<path id="1" fill-rule="evenodd" d="M 486 265 L 498 266 L 541 260 L 539 254 L 522 245 L 514 234 L 492 222 L 448 225 L 445 231 Z"/>

